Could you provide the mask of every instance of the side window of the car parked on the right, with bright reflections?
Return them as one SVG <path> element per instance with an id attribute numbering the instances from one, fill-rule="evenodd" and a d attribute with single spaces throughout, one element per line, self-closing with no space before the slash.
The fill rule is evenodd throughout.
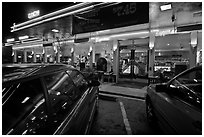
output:
<path id="1" fill-rule="evenodd" d="M 177 89 L 175 94 L 180 99 L 201 108 L 202 104 L 202 70 L 192 70 L 174 79 L 170 85 Z"/>

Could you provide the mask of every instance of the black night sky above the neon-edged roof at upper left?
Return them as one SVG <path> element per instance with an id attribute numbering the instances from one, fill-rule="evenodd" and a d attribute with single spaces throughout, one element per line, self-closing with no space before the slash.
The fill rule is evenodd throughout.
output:
<path id="1" fill-rule="evenodd" d="M 72 6 L 72 2 L 2 2 L 2 42 L 12 37 L 10 27 L 28 21 L 28 13 L 40 10 L 40 16 Z"/>

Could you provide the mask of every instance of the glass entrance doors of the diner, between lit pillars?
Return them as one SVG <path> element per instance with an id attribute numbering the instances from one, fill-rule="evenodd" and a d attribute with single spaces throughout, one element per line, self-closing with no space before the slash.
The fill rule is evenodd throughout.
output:
<path id="1" fill-rule="evenodd" d="M 148 44 L 119 47 L 119 78 L 147 76 Z"/>

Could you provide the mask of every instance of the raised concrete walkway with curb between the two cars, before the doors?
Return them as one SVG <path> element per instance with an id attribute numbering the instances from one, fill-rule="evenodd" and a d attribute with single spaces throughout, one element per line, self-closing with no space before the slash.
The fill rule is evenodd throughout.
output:
<path id="1" fill-rule="evenodd" d="M 139 99 L 145 99 L 147 86 L 139 88 L 116 86 L 115 83 L 102 83 L 99 87 L 100 93 L 120 95 L 126 97 L 133 97 Z"/>

